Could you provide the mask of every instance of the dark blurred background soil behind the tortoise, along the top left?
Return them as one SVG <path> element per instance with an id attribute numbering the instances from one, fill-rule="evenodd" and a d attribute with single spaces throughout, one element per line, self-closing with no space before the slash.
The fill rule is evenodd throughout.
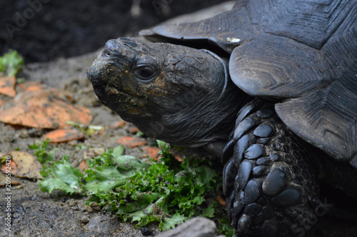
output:
<path id="1" fill-rule="evenodd" d="M 86 54 L 108 39 L 221 2 L 141 0 L 141 15 L 134 17 L 132 0 L 1 0 L 0 53 L 16 49 L 26 63 Z M 12 37 L 8 29 L 13 31 Z"/>

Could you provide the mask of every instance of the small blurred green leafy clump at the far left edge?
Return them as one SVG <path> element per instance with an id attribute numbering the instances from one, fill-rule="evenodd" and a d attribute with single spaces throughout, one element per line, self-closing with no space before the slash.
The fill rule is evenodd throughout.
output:
<path id="1" fill-rule="evenodd" d="M 10 50 L 0 57 L 0 72 L 6 76 L 15 76 L 22 69 L 24 58 L 17 51 Z"/>

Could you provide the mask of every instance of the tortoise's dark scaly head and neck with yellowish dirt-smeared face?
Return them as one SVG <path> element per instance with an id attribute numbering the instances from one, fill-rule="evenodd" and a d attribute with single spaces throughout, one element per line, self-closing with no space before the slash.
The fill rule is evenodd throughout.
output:
<path id="1" fill-rule="evenodd" d="M 88 77 L 99 99 L 148 136 L 178 146 L 227 139 L 238 89 L 215 54 L 134 38 L 110 40 Z"/>

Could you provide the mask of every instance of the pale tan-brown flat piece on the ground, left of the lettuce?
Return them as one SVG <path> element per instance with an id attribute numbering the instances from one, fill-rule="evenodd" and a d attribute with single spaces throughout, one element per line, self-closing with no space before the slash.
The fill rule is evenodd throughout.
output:
<path id="1" fill-rule="evenodd" d="M 16 173 L 11 171 L 11 174 L 21 178 L 42 178 L 40 174 L 41 163 L 30 153 L 26 151 L 11 151 L 7 155 L 11 156 L 11 160 L 14 161 L 17 166 Z"/>

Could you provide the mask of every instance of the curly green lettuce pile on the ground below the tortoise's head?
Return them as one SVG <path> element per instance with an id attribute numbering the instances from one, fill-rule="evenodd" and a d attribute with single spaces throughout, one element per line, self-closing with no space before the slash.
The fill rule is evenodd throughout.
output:
<path id="1" fill-rule="evenodd" d="M 47 163 L 40 189 L 91 196 L 89 202 L 99 203 L 124 221 L 137 221 L 136 226 L 159 221 L 159 228 L 167 230 L 192 216 L 213 217 L 216 202 L 207 200 L 208 193 L 214 193 L 221 180 L 211 163 L 187 158 L 179 163 L 167 146 L 161 159 L 151 163 L 123 152 L 118 146 L 87 160 L 84 174 L 71 166 L 68 156 Z"/>

